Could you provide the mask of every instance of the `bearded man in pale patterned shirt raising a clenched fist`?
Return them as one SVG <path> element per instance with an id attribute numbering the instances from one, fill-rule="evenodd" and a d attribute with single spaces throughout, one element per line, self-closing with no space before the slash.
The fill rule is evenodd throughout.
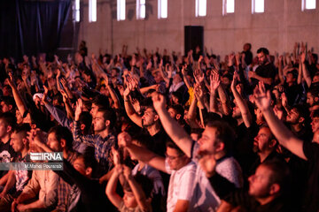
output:
<path id="1" fill-rule="evenodd" d="M 214 153 L 218 159 L 217 172 L 228 178 L 237 187 L 243 185 L 239 164 L 232 156 L 227 155 L 235 139 L 235 134 L 230 125 L 221 121 L 207 123 L 202 137 L 196 142 L 191 140 L 190 135 L 169 116 L 165 108 L 166 103 L 163 95 L 153 95 L 152 101 L 168 136 L 183 150 L 185 155 L 197 162 L 198 155 Z M 193 196 L 197 198 L 193 200 L 194 202 L 191 202 L 191 207 L 194 210 L 204 211 L 218 207 L 220 198 L 210 186 L 204 171 L 198 167 L 195 177 L 194 183 L 197 189 L 193 191 Z"/>

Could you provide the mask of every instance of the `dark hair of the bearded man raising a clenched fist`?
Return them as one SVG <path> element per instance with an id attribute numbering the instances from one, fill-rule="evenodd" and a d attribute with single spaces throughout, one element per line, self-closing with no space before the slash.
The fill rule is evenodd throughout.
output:
<path id="1" fill-rule="evenodd" d="M 206 126 L 216 129 L 216 138 L 224 143 L 226 151 L 232 149 L 236 133 L 230 124 L 225 121 L 209 121 Z"/>

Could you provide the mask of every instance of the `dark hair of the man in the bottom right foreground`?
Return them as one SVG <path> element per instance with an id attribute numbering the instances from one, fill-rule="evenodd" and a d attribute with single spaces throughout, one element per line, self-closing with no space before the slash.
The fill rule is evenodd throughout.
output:
<path id="1" fill-rule="evenodd" d="M 278 184 L 280 186 L 280 194 L 289 191 L 292 184 L 291 171 L 284 161 L 273 159 L 261 163 L 262 166 L 266 166 L 271 170 L 271 176 L 269 179 L 269 184 Z M 269 185 L 269 186 L 270 186 Z"/>

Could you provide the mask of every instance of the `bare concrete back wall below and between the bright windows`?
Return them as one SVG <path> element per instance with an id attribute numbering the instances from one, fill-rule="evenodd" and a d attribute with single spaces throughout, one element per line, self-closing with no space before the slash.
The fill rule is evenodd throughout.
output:
<path id="1" fill-rule="evenodd" d="M 116 0 L 97 0 L 97 22 L 89 23 L 89 0 L 82 0 L 79 41 L 89 53 L 107 49 L 128 53 L 140 49 L 183 52 L 184 26 L 203 26 L 204 45 L 224 56 L 240 51 L 245 42 L 253 52 L 265 46 L 271 53 L 292 51 L 294 42 L 307 42 L 319 52 L 319 0 L 316 9 L 301 11 L 301 0 L 265 0 L 265 12 L 252 14 L 252 0 L 235 0 L 235 13 L 222 16 L 222 0 L 207 0 L 206 17 L 195 17 L 195 0 L 168 0 L 168 18 L 158 19 L 158 1 L 146 0 L 146 19 L 136 19 L 136 0 L 127 0 L 126 20 L 116 20 Z"/>

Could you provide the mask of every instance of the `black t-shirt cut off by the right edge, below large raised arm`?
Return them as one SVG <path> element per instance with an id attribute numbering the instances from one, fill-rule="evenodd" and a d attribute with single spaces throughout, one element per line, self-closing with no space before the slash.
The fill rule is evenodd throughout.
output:
<path id="1" fill-rule="evenodd" d="M 308 162 L 308 180 L 303 211 L 319 210 L 319 145 L 303 142 L 303 152 Z"/>

